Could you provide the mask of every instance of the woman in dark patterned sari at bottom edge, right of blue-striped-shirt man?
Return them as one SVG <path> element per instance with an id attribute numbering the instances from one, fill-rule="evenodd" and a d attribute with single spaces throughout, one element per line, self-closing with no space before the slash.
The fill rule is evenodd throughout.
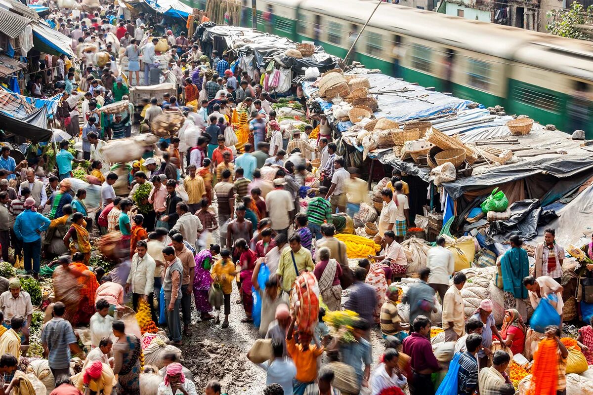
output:
<path id="1" fill-rule="evenodd" d="M 136 335 L 126 335 L 123 321 L 112 324 L 113 335 L 113 373 L 117 375 L 117 393 L 140 395 L 140 365 L 142 346 Z"/>

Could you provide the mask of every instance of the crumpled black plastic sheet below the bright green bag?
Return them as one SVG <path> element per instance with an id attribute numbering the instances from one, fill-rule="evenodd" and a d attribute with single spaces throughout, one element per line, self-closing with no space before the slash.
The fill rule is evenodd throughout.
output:
<path id="1" fill-rule="evenodd" d="M 546 226 L 557 217 L 553 210 L 543 210 L 537 199 L 516 201 L 509 209 L 511 218 L 490 222 L 487 243 L 503 243 L 512 235 L 520 235 L 525 240 L 533 239 L 538 235 L 538 226 Z"/>

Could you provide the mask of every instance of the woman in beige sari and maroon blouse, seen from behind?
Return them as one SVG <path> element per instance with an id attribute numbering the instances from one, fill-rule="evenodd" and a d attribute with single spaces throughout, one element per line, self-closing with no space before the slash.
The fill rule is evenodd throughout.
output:
<path id="1" fill-rule="evenodd" d="M 340 276 L 342 267 L 336 259 L 330 259 L 331 251 L 327 247 L 319 250 L 319 262 L 313 274 L 317 278 L 319 292 L 323 302 L 331 311 L 342 310 L 342 286 Z"/>

